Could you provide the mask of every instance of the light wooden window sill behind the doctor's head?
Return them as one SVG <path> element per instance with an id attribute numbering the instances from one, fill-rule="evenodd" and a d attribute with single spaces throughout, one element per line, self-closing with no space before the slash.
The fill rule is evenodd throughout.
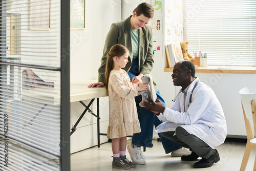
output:
<path id="1" fill-rule="evenodd" d="M 173 68 L 164 68 L 164 72 L 173 72 Z M 232 73 L 232 74 L 256 74 L 256 67 L 248 66 L 207 66 L 198 67 L 196 73 Z"/>

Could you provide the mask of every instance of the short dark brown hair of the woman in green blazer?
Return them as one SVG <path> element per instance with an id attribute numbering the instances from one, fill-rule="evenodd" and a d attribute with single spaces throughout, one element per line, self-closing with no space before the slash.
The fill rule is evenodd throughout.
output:
<path id="1" fill-rule="evenodd" d="M 151 4 L 141 3 L 134 10 L 133 13 L 136 12 L 137 16 L 143 14 L 145 17 L 153 18 L 155 14 L 155 9 Z"/>

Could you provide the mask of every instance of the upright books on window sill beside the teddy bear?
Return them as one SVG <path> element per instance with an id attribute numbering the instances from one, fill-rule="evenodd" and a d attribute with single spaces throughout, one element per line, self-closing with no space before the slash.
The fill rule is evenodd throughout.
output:
<path id="1" fill-rule="evenodd" d="M 167 57 L 169 57 L 170 60 L 170 68 L 174 68 L 175 63 L 178 61 L 184 60 L 183 55 L 182 55 L 182 50 L 180 47 L 180 42 L 179 41 L 173 41 L 171 44 L 167 45 L 168 49 L 168 54 Z M 167 60 L 167 61 L 169 61 Z"/>

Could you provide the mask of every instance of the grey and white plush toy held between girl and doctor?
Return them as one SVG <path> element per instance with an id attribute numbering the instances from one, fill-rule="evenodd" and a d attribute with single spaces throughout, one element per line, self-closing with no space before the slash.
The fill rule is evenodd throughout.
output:
<path id="1" fill-rule="evenodd" d="M 139 91 L 139 94 L 141 94 L 142 96 L 142 101 L 148 102 L 148 100 L 146 100 L 147 98 L 152 98 L 152 101 L 156 101 L 157 98 L 157 94 L 156 91 L 154 89 L 154 83 L 153 83 L 153 78 L 150 74 L 145 74 L 141 77 L 142 82 L 146 83 L 148 86 L 147 91 L 143 90 L 143 91 Z M 140 106 L 144 107 L 142 104 L 142 101 L 140 102 Z"/>

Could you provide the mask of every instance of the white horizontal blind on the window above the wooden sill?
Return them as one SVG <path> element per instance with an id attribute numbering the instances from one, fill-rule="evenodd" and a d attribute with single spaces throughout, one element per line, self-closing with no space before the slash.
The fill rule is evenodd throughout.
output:
<path id="1" fill-rule="evenodd" d="M 188 50 L 207 53 L 208 65 L 256 65 L 256 1 L 185 0 Z"/>

